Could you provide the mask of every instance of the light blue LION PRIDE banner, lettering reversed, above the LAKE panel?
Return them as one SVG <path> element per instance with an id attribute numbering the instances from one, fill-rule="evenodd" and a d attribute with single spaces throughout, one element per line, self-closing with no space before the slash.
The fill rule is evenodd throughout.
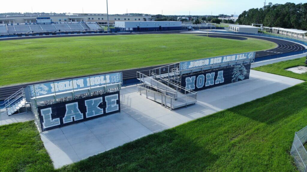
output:
<path id="1" fill-rule="evenodd" d="M 52 93 L 66 92 L 82 88 L 91 88 L 99 85 L 116 84 L 116 83 L 118 84 L 122 83 L 121 72 L 35 84 L 35 85 L 30 85 L 29 87 L 30 87 L 31 97 L 36 97 Z"/>

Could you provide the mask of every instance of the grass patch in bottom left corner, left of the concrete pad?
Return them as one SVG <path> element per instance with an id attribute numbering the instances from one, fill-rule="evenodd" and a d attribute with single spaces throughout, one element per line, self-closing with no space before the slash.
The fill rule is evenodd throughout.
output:
<path id="1" fill-rule="evenodd" d="M 33 121 L 0 126 L 0 171 L 52 171 Z"/>

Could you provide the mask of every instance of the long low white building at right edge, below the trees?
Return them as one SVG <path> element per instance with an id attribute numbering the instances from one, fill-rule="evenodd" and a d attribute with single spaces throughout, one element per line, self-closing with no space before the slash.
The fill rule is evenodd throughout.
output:
<path id="1" fill-rule="evenodd" d="M 300 39 L 307 41 L 306 33 L 307 31 L 299 30 L 299 29 L 285 29 L 285 28 L 271 28 L 272 33 L 289 36 L 291 38 Z"/>

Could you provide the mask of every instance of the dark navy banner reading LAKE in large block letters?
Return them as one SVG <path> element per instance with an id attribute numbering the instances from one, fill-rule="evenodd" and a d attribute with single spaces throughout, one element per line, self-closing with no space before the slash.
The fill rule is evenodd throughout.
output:
<path id="1" fill-rule="evenodd" d="M 38 107 L 42 131 L 120 112 L 119 91 Z"/>

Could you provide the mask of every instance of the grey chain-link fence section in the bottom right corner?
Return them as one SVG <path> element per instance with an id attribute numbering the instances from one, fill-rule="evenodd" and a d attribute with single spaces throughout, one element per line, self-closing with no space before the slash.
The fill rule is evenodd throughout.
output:
<path id="1" fill-rule="evenodd" d="M 300 172 L 307 171 L 307 151 L 304 147 L 304 144 L 306 142 L 307 142 L 307 126 L 295 133 L 290 152 L 294 158 L 294 162 L 297 166 L 297 169 Z"/>

